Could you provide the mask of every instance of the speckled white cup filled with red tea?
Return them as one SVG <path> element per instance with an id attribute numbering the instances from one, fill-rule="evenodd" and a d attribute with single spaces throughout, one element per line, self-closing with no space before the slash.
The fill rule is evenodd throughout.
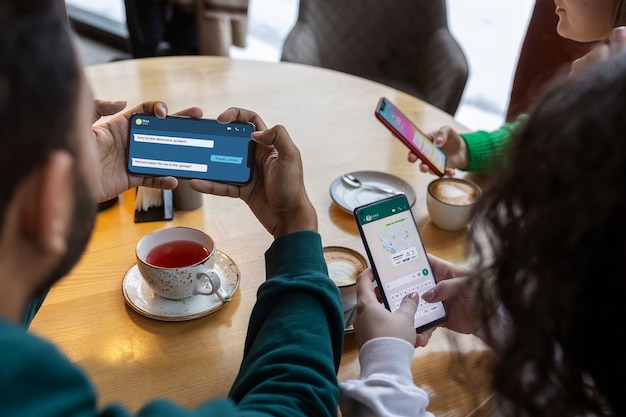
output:
<path id="1" fill-rule="evenodd" d="M 163 298 L 183 300 L 194 295 L 230 295 L 214 270 L 215 242 L 188 227 L 168 227 L 148 233 L 137 243 L 139 272 L 152 291 Z"/>

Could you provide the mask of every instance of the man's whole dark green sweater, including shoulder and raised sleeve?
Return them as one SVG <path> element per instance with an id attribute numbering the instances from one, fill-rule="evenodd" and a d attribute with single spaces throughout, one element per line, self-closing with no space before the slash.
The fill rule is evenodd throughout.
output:
<path id="1" fill-rule="evenodd" d="M 285 235 L 265 256 L 267 280 L 257 294 L 229 398 L 207 398 L 195 409 L 156 399 L 138 416 L 337 415 L 343 315 L 321 238 L 314 232 Z M 0 416 L 132 415 L 119 404 L 98 410 L 97 393 L 81 369 L 49 342 L 2 319 L 0 369 Z"/>

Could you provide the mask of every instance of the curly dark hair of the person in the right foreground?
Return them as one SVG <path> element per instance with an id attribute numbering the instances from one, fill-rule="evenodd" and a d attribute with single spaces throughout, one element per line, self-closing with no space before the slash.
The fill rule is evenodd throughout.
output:
<path id="1" fill-rule="evenodd" d="M 512 322 L 500 410 L 626 415 L 626 54 L 555 82 L 508 155 L 471 227 L 485 311 Z"/>

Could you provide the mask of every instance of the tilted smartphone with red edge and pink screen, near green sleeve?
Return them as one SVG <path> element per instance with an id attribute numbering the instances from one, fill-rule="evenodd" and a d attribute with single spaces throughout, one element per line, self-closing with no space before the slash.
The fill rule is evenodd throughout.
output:
<path id="1" fill-rule="evenodd" d="M 440 177 L 446 171 L 446 154 L 385 97 L 378 100 L 376 118 L 391 130 L 431 171 Z"/>

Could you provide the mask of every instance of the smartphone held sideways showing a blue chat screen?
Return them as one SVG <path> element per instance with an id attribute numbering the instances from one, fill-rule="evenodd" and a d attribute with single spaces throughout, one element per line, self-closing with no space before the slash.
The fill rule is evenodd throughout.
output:
<path id="1" fill-rule="evenodd" d="M 134 114 L 130 119 L 128 171 L 246 184 L 252 179 L 252 123 Z"/>

